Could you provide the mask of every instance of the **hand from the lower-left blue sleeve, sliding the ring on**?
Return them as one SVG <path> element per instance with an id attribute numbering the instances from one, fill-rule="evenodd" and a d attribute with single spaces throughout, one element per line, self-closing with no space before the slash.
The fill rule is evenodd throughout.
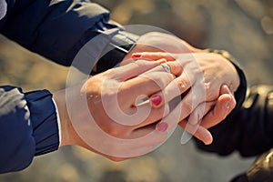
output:
<path id="1" fill-rule="evenodd" d="M 160 64 L 144 60 L 110 69 L 54 94 L 61 121 L 61 146 L 79 145 L 112 160 L 152 151 L 167 139 L 157 122 L 167 105 L 139 105 L 174 78 Z M 148 71 L 149 70 L 149 71 Z"/>

